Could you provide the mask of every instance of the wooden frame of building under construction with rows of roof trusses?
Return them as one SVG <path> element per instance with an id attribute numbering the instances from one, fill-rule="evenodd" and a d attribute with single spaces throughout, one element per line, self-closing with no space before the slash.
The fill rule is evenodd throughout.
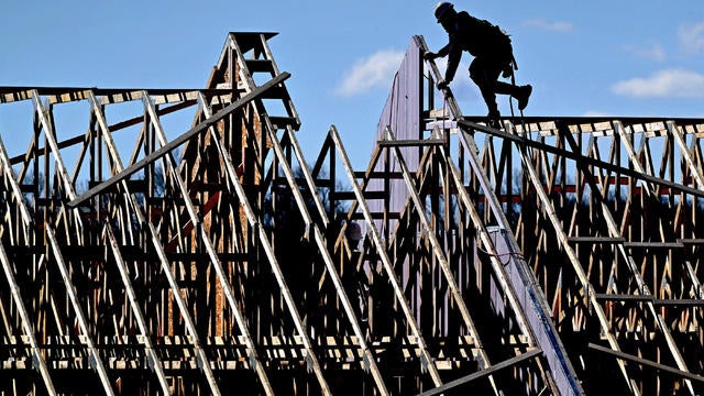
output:
<path id="1" fill-rule="evenodd" d="M 704 119 L 487 128 L 415 36 L 354 169 L 274 35 L 204 89 L 0 88 L 1 395 L 704 393 Z"/>

